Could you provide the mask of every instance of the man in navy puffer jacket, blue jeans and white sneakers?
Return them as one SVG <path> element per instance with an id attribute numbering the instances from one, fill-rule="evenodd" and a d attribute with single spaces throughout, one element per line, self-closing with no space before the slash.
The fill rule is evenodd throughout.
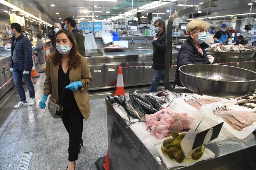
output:
<path id="1" fill-rule="evenodd" d="M 32 45 L 30 40 L 22 33 L 22 28 L 18 23 L 12 23 L 9 27 L 11 38 L 11 59 L 10 71 L 13 72 L 13 79 L 18 90 L 20 101 L 14 108 L 20 108 L 27 105 L 34 105 L 35 89 L 31 81 L 31 70 L 33 67 Z M 27 102 L 24 88 L 22 86 L 22 78 L 28 87 L 30 100 Z"/>

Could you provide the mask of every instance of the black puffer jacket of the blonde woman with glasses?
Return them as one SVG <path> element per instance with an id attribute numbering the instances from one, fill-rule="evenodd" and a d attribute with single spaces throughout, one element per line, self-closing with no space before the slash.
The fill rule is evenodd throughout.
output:
<path id="1" fill-rule="evenodd" d="M 188 37 L 188 40 L 185 41 L 178 53 L 177 57 L 177 67 L 175 73 L 174 84 L 178 86 L 183 86 L 179 80 L 179 67 L 187 64 L 210 64 L 205 49 L 209 47 L 208 44 L 200 44 L 201 49 L 203 50 L 204 56 L 197 50 L 195 43 L 192 38 Z"/>

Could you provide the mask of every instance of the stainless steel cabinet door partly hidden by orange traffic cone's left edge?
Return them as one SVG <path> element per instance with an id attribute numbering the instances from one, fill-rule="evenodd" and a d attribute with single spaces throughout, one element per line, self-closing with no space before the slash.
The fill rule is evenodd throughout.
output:
<path id="1" fill-rule="evenodd" d="M 104 64 L 105 87 L 116 86 L 119 66 L 121 66 L 121 62 Z"/>

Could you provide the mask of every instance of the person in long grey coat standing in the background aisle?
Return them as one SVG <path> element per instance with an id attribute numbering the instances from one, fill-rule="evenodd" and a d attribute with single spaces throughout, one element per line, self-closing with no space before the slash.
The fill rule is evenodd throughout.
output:
<path id="1" fill-rule="evenodd" d="M 33 48 L 33 50 L 36 50 L 37 57 L 39 60 L 39 67 L 41 69 L 39 73 L 44 73 L 45 72 L 45 46 L 40 34 L 36 35 L 36 39 L 37 39 L 37 43 L 36 43 L 36 46 Z"/>

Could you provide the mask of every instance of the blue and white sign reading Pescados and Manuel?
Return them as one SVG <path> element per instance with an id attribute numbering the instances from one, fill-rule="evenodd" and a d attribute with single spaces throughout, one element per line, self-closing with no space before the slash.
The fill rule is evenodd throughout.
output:
<path id="1" fill-rule="evenodd" d="M 92 31 L 92 26 L 94 25 L 94 31 L 102 31 L 102 30 L 113 30 L 114 23 L 113 22 L 80 22 L 80 29 L 83 31 Z"/>

